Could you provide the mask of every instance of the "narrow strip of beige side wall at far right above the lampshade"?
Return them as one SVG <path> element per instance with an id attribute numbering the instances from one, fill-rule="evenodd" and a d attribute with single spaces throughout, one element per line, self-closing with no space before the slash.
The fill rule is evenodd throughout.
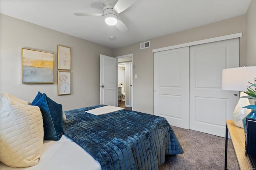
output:
<path id="1" fill-rule="evenodd" d="M 246 12 L 246 66 L 256 66 L 256 0 Z"/>

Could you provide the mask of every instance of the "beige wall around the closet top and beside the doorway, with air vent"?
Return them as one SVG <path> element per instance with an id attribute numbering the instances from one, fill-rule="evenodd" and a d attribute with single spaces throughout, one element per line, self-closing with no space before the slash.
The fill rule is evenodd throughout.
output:
<path id="1" fill-rule="evenodd" d="M 152 49 L 178 45 L 222 35 L 242 32 L 240 38 L 240 65 L 246 65 L 246 16 L 222 20 L 163 37 L 150 39 L 150 48 L 140 50 L 140 43 L 114 49 L 114 56 L 134 55 L 134 106 L 135 111 L 153 114 L 154 111 L 154 54 Z"/>

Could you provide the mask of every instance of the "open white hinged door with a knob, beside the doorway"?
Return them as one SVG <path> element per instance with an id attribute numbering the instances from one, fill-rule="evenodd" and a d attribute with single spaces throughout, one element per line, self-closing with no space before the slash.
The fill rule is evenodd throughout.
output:
<path id="1" fill-rule="evenodd" d="M 100 55 L 100 104 L 118 106 L 117 59 Z"/>

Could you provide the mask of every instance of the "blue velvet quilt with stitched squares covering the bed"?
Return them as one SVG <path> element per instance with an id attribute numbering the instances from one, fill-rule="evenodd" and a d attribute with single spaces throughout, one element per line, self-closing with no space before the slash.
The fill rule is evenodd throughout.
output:
<path id="1" fill-rule="evenodd" d="M 92 115 L 65 111 L 64 134 L 98 160 L 102 170 L 158 170 L 166 154 L 182 154 L 174 131 L 164 117 L 131 110 Z"/>

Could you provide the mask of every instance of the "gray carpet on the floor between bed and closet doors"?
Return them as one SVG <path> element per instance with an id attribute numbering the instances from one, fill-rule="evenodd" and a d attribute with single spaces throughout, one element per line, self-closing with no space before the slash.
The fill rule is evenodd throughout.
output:
<path id="1" fill-rule="evenodd" d="M 183 154 L 167 155 L 159 170 L 224 170 L 225 138 L 172 126 Z M 239 170 L 232 142 L 228 139 L 228 170 Z"/>

